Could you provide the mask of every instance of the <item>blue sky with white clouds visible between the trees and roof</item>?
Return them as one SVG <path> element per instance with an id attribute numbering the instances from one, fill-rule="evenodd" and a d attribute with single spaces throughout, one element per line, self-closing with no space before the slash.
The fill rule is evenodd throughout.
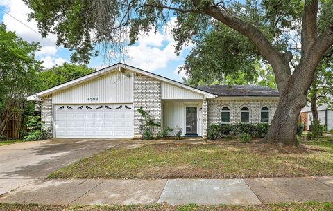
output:
<path id="1" fill-rule="evenodd" d="M 19 37 L 28 42 L 40 42 L 42 49 L 35 54 L 37 60 L 43 61 L 44 67 L 51 68 L 53 65 L 70 62 L 70 51 L 62 46 L 56 46 L 56 35 L 43 38 L 38 33 L 37 22 L 27 20 L 31 10 L 22 0 L 0 0 L 0 9 L 0 21 L 6 24 L 7 30 L 15 31 Z M 175 19 L 171 18 L 171 26 L 174 21 Z M 139 37 L 135 45 L 127 47 L 128 59 L 125 63 L 181 82 L 185 75 L 183 73 L 178 75 L 178 68 L 184 64 L 191 46 L 183 48 L 177 56 L 174 52 L 176 42 L 170 31 L 160 30 L 156 34 L 152 31 L 148 35 Z M 92 57 L 88 64 L 89 67 L 96 69 L 108 65 L 111 64 L 105 64 L 105 58 L 102 55 Z"/>

